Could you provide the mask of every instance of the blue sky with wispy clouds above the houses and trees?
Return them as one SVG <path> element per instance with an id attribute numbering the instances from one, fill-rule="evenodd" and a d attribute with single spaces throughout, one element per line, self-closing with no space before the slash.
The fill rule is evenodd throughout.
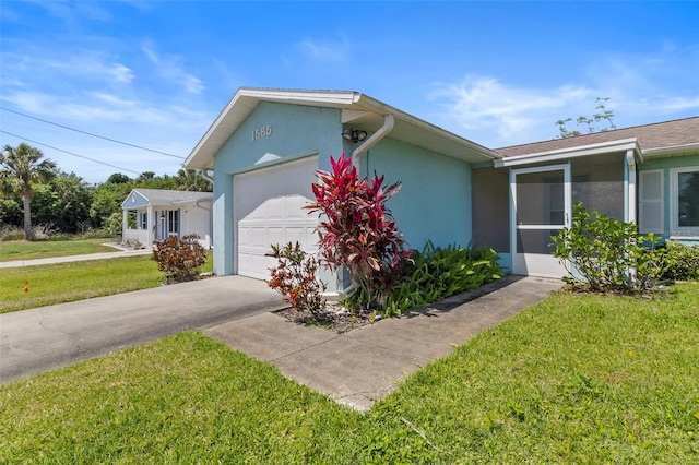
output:
<path id="1" fill-rule="evenodd" d="M 13 111 L 183 158 L 240 86 L 358 91 L 489 147 L 554 139 L 596 97 L 619 128 L 685 118 L 698 23 L 697 1 L 2 0 L 0 143 L 87 182 L 174 175 L 181 158 Z"/>

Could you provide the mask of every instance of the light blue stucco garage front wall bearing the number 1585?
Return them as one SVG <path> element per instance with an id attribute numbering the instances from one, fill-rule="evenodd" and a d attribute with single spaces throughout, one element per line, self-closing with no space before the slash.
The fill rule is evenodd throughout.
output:
<path id="1" fill-rule="evenodd" d="M 271 133 L 266 134 L 266 128 Z M 265 135 L 254 138 L 254 131 Z M 214 273 L 234 272 L 233 174 L 253 167 L 266 153 L 294 157 L 318 153 L 319 168 L 342 153 L 342 124 L 335 108 L 263 102 L 242 122 L 214 158 Z"/>

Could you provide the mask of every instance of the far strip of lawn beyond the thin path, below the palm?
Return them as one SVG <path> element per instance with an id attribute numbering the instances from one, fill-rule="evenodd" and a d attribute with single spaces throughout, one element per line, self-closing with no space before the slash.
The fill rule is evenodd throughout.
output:
<path id="1" fill-rule="evenodd" d="M 0 242 L 0 262 L 14 260 L 48 259 L 51 257 L 82 255 L 85 253 L 118 252 L 119 249 L 103 246 L 109 239 L 76 240 L 11 240 Z"/>

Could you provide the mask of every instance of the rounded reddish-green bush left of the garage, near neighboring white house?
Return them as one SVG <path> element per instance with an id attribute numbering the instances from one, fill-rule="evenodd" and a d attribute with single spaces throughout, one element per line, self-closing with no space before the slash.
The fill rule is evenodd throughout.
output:
<path id="1" fill-rule="evenodd" d="M 206 262 L 206 250 L 199 243 L 199 235 L 190 234 L 181 239 L 169 236 L 155 245 L 152 260 L 165 272 L 167 283 L 196 279 L 198 269 Z"/>

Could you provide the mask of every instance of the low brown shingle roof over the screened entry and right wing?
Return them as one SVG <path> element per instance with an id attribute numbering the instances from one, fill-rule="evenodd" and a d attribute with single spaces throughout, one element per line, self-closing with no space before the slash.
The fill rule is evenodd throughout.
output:
<path id="1" fill-rule="evenodd" d="M 653 124 L 636 126 L 614 131 L 596 132 L 593 134 L 576 135 L 573 138 L 555 139 L 553 141 L 534 142 L 523 145 L 496 148 L 506 157 L 528 155 L 542 152 L 559 151 L 604 142 L 638 140 L 642 151 L 650 148 L 672 147 L 677 145 L 699 143 L 699 116 L 656 122 Z"/>

